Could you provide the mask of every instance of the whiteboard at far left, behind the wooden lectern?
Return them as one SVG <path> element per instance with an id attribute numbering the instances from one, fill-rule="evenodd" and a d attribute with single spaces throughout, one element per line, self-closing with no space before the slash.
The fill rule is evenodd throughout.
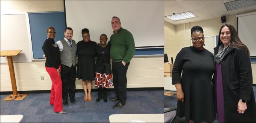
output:
<path id="1" fill-rule="evenodd" d="M 26 14 L 1 15 L 0 49 L 22 50 L 13 57 L 14 62 L 32 62 L 31 46 L 28 38 Z M 7 57 L 0 57 L 1 63 L 7 63 Z"/>

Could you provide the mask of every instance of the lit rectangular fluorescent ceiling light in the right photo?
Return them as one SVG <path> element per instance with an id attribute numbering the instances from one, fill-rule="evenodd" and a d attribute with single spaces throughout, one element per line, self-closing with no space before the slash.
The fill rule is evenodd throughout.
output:
<path id="1" fill-rule="evenodd" d="M 183 20 L 183 19 L 188 19 L 188 18 L 194 18 L 196 16 L 191 12 L 184 12 L 184 13 L 179 13 L 179 14 L 173 14 L 170 16 L 165 16 L 165 17 L 170 20 L 173 20 L 173 21 L 178 21 L 178 20 Z"/>

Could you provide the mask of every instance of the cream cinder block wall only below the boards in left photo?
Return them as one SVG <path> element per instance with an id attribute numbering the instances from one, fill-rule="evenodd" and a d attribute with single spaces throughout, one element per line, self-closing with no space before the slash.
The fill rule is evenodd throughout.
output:
<path id="1" fill-rule="evenodd" d="M 162 57 L 133 58 L 127 71 L 127 87 L 164 87 L 163 60 Z M 52 81 L 45 70 L 44 63 L 45 62 L 14 63 L 18 91 L 51 89 Z M 12 91 L 8 63 L 1 63 L 0 67 L 0 91 Z M 41 80 L 40 76 L 44 76 L 44 80 Z M 93 88 L 95 87 L 93 86 Z M 83 89 L 81 80 L 76 79 L 76 89 Z"/>

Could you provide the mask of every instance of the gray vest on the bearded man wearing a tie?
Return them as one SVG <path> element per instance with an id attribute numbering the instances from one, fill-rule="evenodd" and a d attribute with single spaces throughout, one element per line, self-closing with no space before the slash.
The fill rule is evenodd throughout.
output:
<path id="1" fill-rule="evenodd" d="M 76 42 L 71 40 L 72 49 L 70 48 L 68 42 L 65 39 L 60 40 L 63 46 L 63 50 L 60 51 L 60 63 L 71 67 L 76 65 Z"/>

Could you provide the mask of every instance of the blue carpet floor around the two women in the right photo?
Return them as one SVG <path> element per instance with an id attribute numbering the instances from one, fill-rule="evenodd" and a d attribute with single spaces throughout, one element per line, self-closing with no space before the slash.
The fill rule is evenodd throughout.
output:
<path id="1" fill-rule="evenodd" d="M 252 88 L 253 88 L 254 97 L 256 100 L 256 86 L 252 86 Z M 164 107 L 170 108 L 170 109 L 177 108 L 177 95 L 174 95 L 172 97 L 165 95 L 164 96 Z M 176 117 L 176 119 L 174 119 L 173 122 L 174 123 L 185 123 L 185 117 L 182 117 L 182 118 Z M 218 121 L 217 120 L 213 121 L 213 123 L 216 123 L 216 122 L 218 122 Z"/>

